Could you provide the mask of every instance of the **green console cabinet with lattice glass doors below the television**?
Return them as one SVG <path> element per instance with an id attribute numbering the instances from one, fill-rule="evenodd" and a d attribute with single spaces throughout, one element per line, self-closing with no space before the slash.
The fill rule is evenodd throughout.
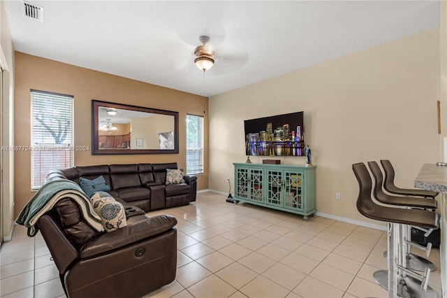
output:
<path id="1" fill-rule="evenodd" d="M 297 213 L 316 212 L 315 168 L 292 164 L 234 164 L 235 201 Z"/>

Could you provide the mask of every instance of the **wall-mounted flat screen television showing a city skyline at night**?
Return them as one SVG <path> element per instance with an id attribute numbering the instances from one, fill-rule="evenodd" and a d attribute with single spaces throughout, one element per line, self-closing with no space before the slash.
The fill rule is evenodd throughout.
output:
<path id="1" fill-rule="evenodd" d="M 305 155 L 302 111 L 244 120 L 244 130 L 246 155 Z"/>

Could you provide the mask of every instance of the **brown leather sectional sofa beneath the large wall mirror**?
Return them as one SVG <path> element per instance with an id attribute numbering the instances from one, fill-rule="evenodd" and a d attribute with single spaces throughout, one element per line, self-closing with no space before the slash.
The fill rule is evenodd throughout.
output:
<path id="1" fill-rule="evenodd" d="M 112 197 L 145 212 L 196 201 L 197 177 L 184 176 L 185 183 L 166 185 L 166 169 L 178 169 L 177 163 L 75 166 L 54 170 L 49 177 L 63 176 L 80 184 L 80 177 L 103 176 Z"/>

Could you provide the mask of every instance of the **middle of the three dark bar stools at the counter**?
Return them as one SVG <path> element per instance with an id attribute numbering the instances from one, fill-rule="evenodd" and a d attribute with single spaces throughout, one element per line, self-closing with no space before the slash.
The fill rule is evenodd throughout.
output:
<path id="1" fill-rule="evenodd" d="M 377 162 L 368 162 L 368 166 L 371 170 L 372 176 L 374 177 L 375 183 L 373 194 L 377 201 L 381 202 L 382 204 L 396 205 L 406 208 L 423 208 L 425 210 L 434 210 L 437 208 L 437 201 L 435 199 L 426 199 L 425 197 L 402 197 L 386 194 L 382 190 L 383 175 L 381 169 L 379 168 L 379 164 L 377 164 Z M 415 246 L 416 248 L 425 251 L 425 257 L 429 257 L 432 244 L 429 243 L 429 245 L 425 248 L 424 246 L 420 246 L 419 244 L 412 242 L 410 225 L 407 226 L 406 231 L 403 233 L 404 234 L 402 236 L 404 236 L 404 242 L 406 243 L 406 267 L 417 271 L 425 271 L 425 268 L 427 267 L 430 271 L 436 270 L 436 266 L 434 266 L 432 262 L 424 257 L 411 253 L 411 246 Z M 388 257 L 388 252 L 385 251 L 383 256 Z"/>

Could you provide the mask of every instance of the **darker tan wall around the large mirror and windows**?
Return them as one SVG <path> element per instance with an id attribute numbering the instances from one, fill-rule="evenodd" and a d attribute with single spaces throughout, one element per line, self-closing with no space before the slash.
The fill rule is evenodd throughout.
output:
<path id="1" fill-rule="evenodd" d="M 75 165 L 177 162 L 186 168 L 186 113 L 203 115 L 205 102 L 205 136 L 207 136 L 207 98 L 179 92 L 137 80 L 55 62 L 49 59 L 15 53 L 15 144 L 30 144 L 30 89 L 74 96 L 74 146 L 91 147 L 91 99 L 119 104 L 145 106 L 179 112 L 179 154 L 166 155 L 91 155 L 91 151 L 75 152 Z M 205 139 L 207 152 L 207 139 Z M 15 214 L 34 194 L 31 192 L 30 152 L 15 152 Z M 207 155 L 205 156 L 206 161 Z M 205 163 L 206 165 L 206 163 Z M 205 175 L 198 176 L 198 189 L 207 188 Z"/>

